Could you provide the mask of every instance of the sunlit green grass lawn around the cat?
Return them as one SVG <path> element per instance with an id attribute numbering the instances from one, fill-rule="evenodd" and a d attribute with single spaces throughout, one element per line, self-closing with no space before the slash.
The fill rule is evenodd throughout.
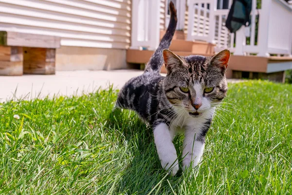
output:
<path id="1" fill-rule="evenodd" d="M 292 85 L 247 81 L 227 94 L 197 177 L 167 176 L 151 129 L 112 115 L 115 90 L 0 104 L 0 194 L 292 194 Z"/>

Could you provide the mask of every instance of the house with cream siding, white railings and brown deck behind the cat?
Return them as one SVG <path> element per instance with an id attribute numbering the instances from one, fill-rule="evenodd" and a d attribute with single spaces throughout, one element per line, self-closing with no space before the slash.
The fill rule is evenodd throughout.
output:
<path id="1" fill-rule="evenodd" d="M 164 35 L 168 1 L 0 0 L 0 31 L 60 37 L 56 70 L 139 68 Z M 283 81 L 292 69 L 292 7 L 286 1 L 262 0 L 257 7 L 253 0 L 251 25 L 236 35 L 224 26 L 232 0 L 172 1 L 179 21 L 170 49 L 178 55 L 212 56 L 227 48 L 234 54 L 227 78 Z"/>

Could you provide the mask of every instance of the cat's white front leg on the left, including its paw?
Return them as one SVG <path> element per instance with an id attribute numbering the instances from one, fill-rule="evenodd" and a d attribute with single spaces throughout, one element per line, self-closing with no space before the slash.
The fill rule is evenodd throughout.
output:
<path id="1" fill-rule="evenodd" d="M 172 176 L 179 170 L 179 162 L 175 147 L 172 143 L 174 135 L 165 123 L 154 127 L 154 141 L 162 167 Z"/>

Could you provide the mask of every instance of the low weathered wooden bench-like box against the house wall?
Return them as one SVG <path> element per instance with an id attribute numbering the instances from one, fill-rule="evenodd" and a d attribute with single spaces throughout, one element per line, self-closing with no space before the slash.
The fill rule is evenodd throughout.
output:
<path id="1" fill-rule="evenodd" d="M 0 31 L 0 75 L 55 74 L 60 38 Z"/>

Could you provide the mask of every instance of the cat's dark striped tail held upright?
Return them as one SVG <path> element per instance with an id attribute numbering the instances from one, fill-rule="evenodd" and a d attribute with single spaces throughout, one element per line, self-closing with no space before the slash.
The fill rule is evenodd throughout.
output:
<path id="1" fill-rule="evenodd" d="M 168 49 L 173 38 L 176 25 L 178 22 L 176 9 L 172 1 L 169 3 L 169 10 L 170 10 L 170 20 L 168 24 L 168 28 L 165 32 L 165 35 L 160 41 L 158 48 L 156 49 L 155 53 L 151 56 L 149 62 L 146 65 L 145 72 L 152 72 L 159 74 L 160 68 L 163 65 L 163 56 L 162 51 L 164 49 Z"/>

